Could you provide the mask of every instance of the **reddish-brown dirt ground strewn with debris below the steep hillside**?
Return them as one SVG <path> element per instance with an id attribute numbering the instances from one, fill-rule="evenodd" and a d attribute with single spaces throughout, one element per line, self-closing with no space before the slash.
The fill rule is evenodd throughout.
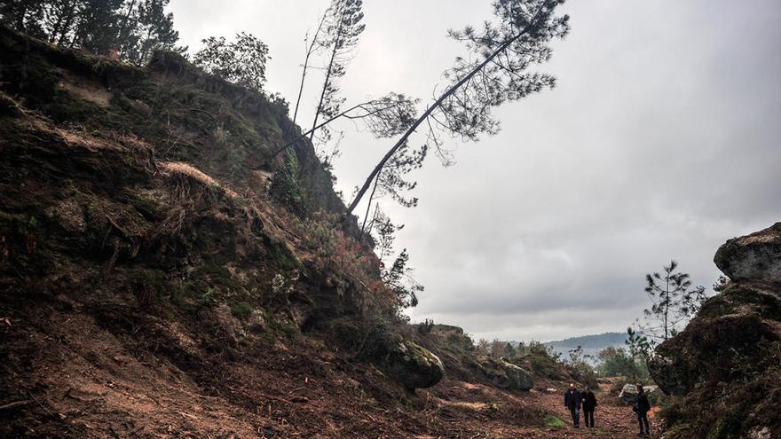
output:
<path id="1" fill-rule="evenodd" d="M 611 403 L 604 390 L 595 429 L 556 427 L 568 421 L 564 383 L 544 383 L 556 386 L 556 393 L 544 387 L 515 393 L 446 379 L 416 396 L 394 395 L 382 372 L 344 361 L 306 337 L 297 344 L 248 346 L 241 357 L 218 356 L 201 350 L 188 335 L 192 328 L 125 315 L 115 305 L 88 313 L 67 301 L 55 303 L 12 305 L 0 316 L 0 436 L 499 439 L 636 433 L 631 410 Z M 186 356 L 187 349 L 198 355 Z M 209 355 L 218 357 L 209 361 Z"/>

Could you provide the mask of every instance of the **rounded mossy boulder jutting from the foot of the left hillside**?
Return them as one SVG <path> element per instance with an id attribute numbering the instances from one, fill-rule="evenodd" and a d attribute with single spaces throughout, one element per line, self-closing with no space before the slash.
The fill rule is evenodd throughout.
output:
<path id="1" fill-rule="evenodd" d="M 412 341 L 398 342 L 390 351 L 383 369 L 409 390 L 430 388 L 445 375 L 442 361 L 430 350 Z"/>

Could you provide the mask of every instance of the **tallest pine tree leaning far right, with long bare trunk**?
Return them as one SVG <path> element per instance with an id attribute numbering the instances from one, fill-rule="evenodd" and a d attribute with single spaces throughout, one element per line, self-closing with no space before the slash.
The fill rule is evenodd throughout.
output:
<path id="1" fill-rule="evenodd" d="M 358 207 L 373 185 L 376 187 L 377 179 L 408 148 L 417 129 L 426 127 L 428 142 L 440 160 L 450 164 L 452 153 L 444 148 L 438 132 L 470 141 L 482 133 L 494 134 L 499 129 L 491 113 L 494 106 L 553 87 L 552 76 L 527 72 L 527 68 L 550 59 L 551 40 L 568 33 L 569 17 L 555 14 L 561 4 L 564 0 L 493 0 L 495 21 L 486 21 L 480 31 L 473 27 L 450 31 L 451 37 L 466 43 L 469 57 L 457 58 L 454 67 L 446 71 L 450 83 L 372 169 L 347 214 Z M 397 181 L 391 178 L 390 184 Z"/>

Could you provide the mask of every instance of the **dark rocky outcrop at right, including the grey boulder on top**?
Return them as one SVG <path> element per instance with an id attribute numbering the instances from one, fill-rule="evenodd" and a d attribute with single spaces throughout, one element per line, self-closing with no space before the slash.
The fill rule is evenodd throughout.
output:
<path id="1" fill-rule="evenodd" d="M 730 239 L 714 263 L 729 284 L 649 362 L 678 396 L 666 437 L 781 437 L 781 223 Z"/>

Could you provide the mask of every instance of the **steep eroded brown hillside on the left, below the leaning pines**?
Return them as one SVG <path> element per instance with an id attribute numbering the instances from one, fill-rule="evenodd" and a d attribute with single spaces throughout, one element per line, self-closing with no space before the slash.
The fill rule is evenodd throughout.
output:
<path id="1" fill-rule="evenodd" d="M 168 52 L 130 67 L 7 29 L 0 50 L 0 435 L 544 425 L 532 376 L 462 334 L 469 367 L 415 392 L 446 373 L 421 344 L 452 347 L 405 324 L 312 145 L 275 154 L 299 133 L 282 102 Z"/>

